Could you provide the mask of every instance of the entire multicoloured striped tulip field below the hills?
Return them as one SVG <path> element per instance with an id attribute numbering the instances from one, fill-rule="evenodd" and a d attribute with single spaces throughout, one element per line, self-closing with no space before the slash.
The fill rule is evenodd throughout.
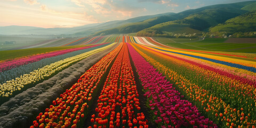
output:
<path id="1" fill-rule="evenodd" d="M 0 60 L 0 127 L 256 126 L 254 53 L 127 35 L 27 50 L 36 46 L 47 52 L 20 50 Z M 47 50 L 53 46 L 67 48 Z"/>

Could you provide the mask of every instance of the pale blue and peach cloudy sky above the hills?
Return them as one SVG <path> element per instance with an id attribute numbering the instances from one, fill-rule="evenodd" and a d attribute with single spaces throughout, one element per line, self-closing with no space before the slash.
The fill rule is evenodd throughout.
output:
<path id="1" fill-rule="evenodd" d="M 244 0 L 1 0 L 0 26 L 67 28 Z M 245 0 L 248 1 L 248 0 Z"/>

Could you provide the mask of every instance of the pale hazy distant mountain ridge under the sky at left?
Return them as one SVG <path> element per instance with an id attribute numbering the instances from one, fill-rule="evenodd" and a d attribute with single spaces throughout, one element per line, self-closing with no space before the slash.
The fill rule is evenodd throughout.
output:
<path id="1" fill-rule="evenodd" d="M 29 26 L 4 26 L 0 27 L 0 35 L 92 35 L 97 31 L 114 28 L 125 25 L 127 23 L 140 22 L 150 18 L 161 15 L 169 15 L 173 13 L 163 13 L 156 15 L 145 15 L 141 17 L 131 18 L 127 20 L 116 20 L 105 23 L 93 23 L 85 26 L 78 26 L 73 28 L 40 28 Z"/>

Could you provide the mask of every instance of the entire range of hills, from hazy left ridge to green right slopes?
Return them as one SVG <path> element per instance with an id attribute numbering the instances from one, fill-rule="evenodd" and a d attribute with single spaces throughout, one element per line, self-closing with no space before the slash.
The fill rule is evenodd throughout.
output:
<path id="1" fill-rule="evenodd" d="M 127 20 L 94 23 L 74 28 L 0 27 L 2 35 L 76 35 L 99 36 L 137 33 L 138 36 L 177 37 L 177 34 L 202 33 L 232 35 L 256 31 L 256 1 L 218 4 L 179 13 L 145 15 Z M 246 19 L 246 20 L 245 20 Z M 175 35 L 176 34 L 176 35 Z M 187 34 L 187 35 L 186 35 Z"/>

